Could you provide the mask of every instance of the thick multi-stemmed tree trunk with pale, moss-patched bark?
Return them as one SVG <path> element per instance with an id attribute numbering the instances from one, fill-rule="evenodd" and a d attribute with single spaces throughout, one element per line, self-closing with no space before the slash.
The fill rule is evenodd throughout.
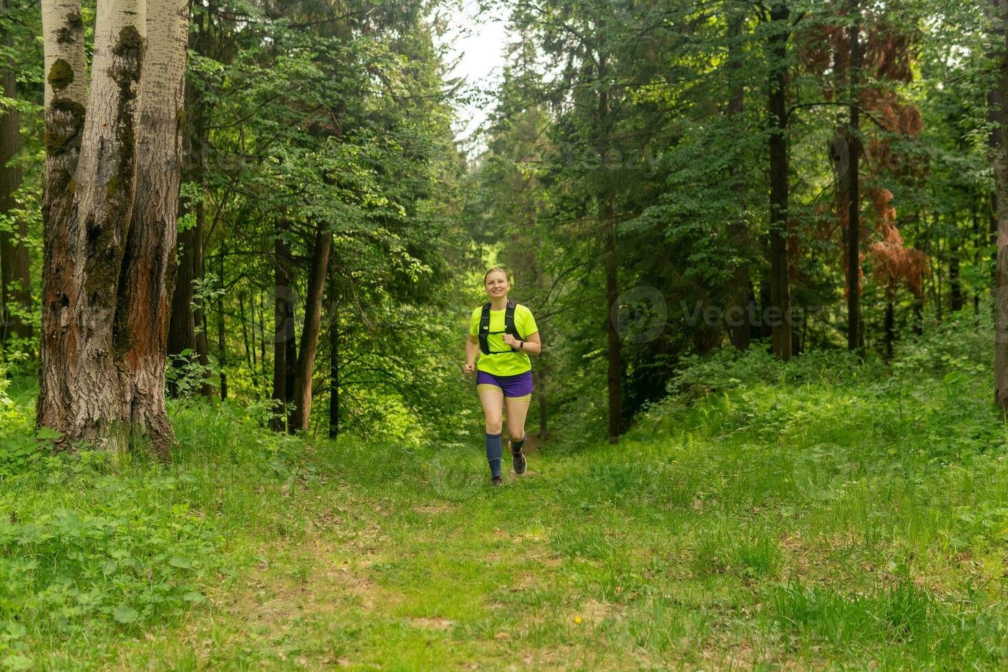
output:
<path id="1" fill-rule="evenodd" d="M 38 426 L 66 445 L 143 435 L 162 456 L 188 3 L 99 0 L 85 93 L 80 1 L 42 6 L 47 69 Z"/>

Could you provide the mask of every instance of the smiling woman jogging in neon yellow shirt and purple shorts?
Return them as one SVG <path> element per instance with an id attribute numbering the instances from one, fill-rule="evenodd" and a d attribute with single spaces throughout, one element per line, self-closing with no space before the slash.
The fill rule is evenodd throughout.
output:
<path id="1" fill-rule="evenodd" d="M 529 355 L 542 352 L 532 311 L 507 297 L 507 271 L 491 268 L 483 276 L 490 300 L 473 310 L 466 342 L 466 375 L 476 374 L 476 391 L 487 419 L 487 462 L 490 484 L 501 476 L 501 413 L 507 408 L 507 433 L 515 474 L 525 472 L 525 416 L 532 399 L 532 363 Z M 477 354 L 478 364 L 474 365 Z"/>

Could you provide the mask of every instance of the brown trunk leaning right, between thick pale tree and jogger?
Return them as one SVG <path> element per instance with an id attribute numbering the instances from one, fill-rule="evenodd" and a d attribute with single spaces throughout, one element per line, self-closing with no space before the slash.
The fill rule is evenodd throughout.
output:
<path id="1" fill-rule="evenodd" d="M 301 330 L 301 347 L 297 354 L 297 370 L 294 375 L 295 407 L 292 424 L 295 430 L 307 429 L 311 419 L 311 374 L 314 371 L 314 359 L 319 350 L 322 296 L 326 287 L 329 252 L 332 245 L 333 233 L 329 230 L 329 224 L 321 223 L 311 252 L 307 296 L 304 300 L 304 326 Z"/>

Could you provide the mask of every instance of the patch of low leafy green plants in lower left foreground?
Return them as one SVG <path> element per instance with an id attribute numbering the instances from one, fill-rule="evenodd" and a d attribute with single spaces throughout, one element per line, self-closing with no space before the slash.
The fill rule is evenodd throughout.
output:
<path id="1" fill-rule="evenodd" d="M 173 496 L 184 477 L 153 464 L 120 471 L 108 452 L 34 447 L 8 460 L 20 472 L 0 491 L 0 624 L 11 634 L 0 653 L 25 635 L 139 628 L 204 599 L 220 532 Z"/>

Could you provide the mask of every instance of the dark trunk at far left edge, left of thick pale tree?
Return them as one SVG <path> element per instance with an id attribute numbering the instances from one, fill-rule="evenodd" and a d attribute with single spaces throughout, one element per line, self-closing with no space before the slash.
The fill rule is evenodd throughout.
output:
<path id="1" fill-rule="evenodd" d="M 17 80 L 10 63 L 2 74 L 2 86 L 4 96 L 17 98 Z M 0 112 L 0 214 L 17 206 L 14 192 L 21 186 L 21 164 L 7 163 L 21 151 L 20 126 L 17 108 L 11 106 Z M 30 339 L 33 333 L 30 319 L 24 318 L 31 311 L 31 269 L 24 245 L 27 222 L 24 218 L 16 222 L 16 231 L 0 232 L 0 346 L 12 335 Z"/>

